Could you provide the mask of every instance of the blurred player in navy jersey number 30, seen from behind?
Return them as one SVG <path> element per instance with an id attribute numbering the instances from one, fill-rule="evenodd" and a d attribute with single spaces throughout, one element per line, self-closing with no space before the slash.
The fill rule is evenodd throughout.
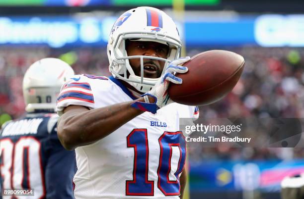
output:
<path id="1" fill-rule="evenodd" d="M 73 69 L 56 58 L 41 59 L 26 71 L 23 96 L 27 113 L 5 123 L 0 134 L 3 190 L 32 189 L 28 199 L 74 198 L 75 151 L 64 149 L 58 140 L 58 115 L 54 113 L 60 88 L 73 75 Z"/>

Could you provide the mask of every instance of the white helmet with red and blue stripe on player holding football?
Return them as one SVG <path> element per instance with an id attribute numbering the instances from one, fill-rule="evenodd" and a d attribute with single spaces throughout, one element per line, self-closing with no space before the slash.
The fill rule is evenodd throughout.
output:
<path id="1" fill-rule="evenodd" d="M 127 39 L 168 45 L 167 59 L 146 55 L 128 56 L 125 48 Z M 114 77 L 128 82 L 138 91 L 146 93 L 151 90 L 159 78 L 143 76 L 143 59 L 164 61 L 163 73 L 170 61 L 180 56 L 181 46 L 177 27 L 171 17 L 153 7 L 137 7 L 122 14 L 112 27 L 107 47 L 109 70 Z M 135 75 L 129 63 L 129 59 L 134 58 L 141 60 L 141 76 Z M 129 76 L 127 71 L 130 73 Z"/>

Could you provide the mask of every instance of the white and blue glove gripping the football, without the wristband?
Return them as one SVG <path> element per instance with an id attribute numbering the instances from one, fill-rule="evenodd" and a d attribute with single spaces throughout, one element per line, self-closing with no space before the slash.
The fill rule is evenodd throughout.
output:
<path id="1" fill-rule="evenodd" d="M 170 83 L 181 84 L 183 80 L 174 76 L 175 73 L 186 73 L 188 68 L 185 66 L 180 66 L 181 64 L 190 60 L 190 57 L 181 57 L 179 59 L 170 62 L 166 68 L 163 76 L 161 76 L 155 86 L 152 88 L 148 94 L 154 96 L 156 100 L 156 105 L 161 108 L 173 101 L 170 99 L 167 89 Z"/>

